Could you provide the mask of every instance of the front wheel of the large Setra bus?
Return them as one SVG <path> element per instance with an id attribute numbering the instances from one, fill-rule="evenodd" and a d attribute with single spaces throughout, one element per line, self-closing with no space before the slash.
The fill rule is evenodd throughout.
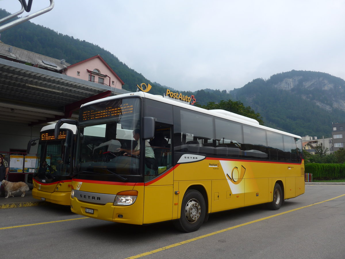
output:
<path id="1" fill-rule="evenodd" d="M 203 224 L 206 205 L 203 195 L 196 190 L 185 193 L 181 205 L 181 217 L 174 221 L 175 227 L 183 232 L 193 232 Z"/>

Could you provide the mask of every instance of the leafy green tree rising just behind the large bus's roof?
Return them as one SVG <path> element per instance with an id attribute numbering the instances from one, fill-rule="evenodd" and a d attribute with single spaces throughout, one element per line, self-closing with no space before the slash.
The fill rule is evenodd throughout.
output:
<path id="1" fill-rule="evenodd" d="M 213 110 L 213 109 L 221 109 L 228 112 L 236 113 L 239 115 L 243 115 L 252 119 L 256 119 L 261 125 L 264 125 L 263 118 L 259 113 L 255 113 L 255 111 L 250 106 L 244 106 L 244 104 L 240 101 L 233 101 L 233 100 L 221 100 L 219 103 L 208 102 L 207 105 L 197 105 L 198 107 Z"/>

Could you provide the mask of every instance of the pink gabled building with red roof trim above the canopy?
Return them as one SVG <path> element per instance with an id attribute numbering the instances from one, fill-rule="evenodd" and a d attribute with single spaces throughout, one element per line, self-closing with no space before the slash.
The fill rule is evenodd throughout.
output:
<path id="1" fill-rule="evenodd" d="M 62 70 L 62 74 L 122 89 L 125 83 L 101 56 L 85 59 Z"/>

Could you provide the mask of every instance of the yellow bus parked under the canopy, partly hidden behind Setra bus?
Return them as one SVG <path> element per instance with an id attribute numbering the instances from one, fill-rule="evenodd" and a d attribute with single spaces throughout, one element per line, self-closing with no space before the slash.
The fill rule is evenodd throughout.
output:
<path id="1" fill-rule="evenodd" d="M 35 172 L 32 175 L 32 197 L 61 205 L 70 205 L 71 170 L 76 125 L 60 127 L 54 137 L 55 124 L 42 127 L 37 147 Z M 31 140 L 31 143 L 34 143 Z M 30 146 L 30 143 L 29 145 Z"/>

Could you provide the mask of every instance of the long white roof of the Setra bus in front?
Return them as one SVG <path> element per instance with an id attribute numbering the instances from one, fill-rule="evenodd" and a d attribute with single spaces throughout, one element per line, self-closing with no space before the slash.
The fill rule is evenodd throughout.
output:
<path id="1" fill-rule="evenodd" d="M 182 103 L 182 102 L 177 102 L 173 99 L 170 98 L 164 98 L 161 95 L 153 95 L 153 94 L 149 94 L 149 93 L 145 93 L 145 92 L 135 92 L 135 93 L 128 93 L 128 94 L 121 94 L 121 95 L 116 95 L 116 96 L 109 96 L 109 97 L 105 97 L 102 99 L 98 99 L 98 100 L 94 100 L 92 102 L 88 102 L 85 103 L 82 106 L 85 105 L 90 105 L 90 104 L 95 104 L 95 103 L 100 103 L 100 102 L 104 102 L 106 100 L 112 100 L 112 99 L 118 99 L 118 98 L 126 98 L 126 97 L 131 97 L 131 96 L 138 96 L 138 97 L 143 97 L 143 98 L 148 98 L 148 99 L 152 99 L 152 100 L 157 100 L 159 102 L 163 102 L 163 103 L 167 103 L 167 104 L 171 104 L 171 105 L 175 105 L 175 106 L 179 106 L 179 107 L 183 107 L 192 111 L 197 111 L 197 112 L 201 112 L 201 113 L 205 113 L 205 114 L 209 114 L 209 115 L 213 115 L 219 118 L 225 118 L 234 122 L 239 122 L 245 125 L 250 125 L 253 127 L 257 127 L 257 128 L 262 128 L 264 130 L 269 130 L 272 132 L 277 132 L 277 133 L 281 133 L 284 135 L 288 135 L 288 136 L 292 136 L 295 138 L 301 138 L 298 135 L 294 135 L 288 132 L 284 132 L 284 131 L 280 131 L 280 130 L 276 130 L 274 128 L 270 128 L 270 127 L 266 127 L 263 125 L 259 125 L 258 121 L 256 119 L 252 119 L 249 117 L 245 117 L 243 115 L 239 115 L 236 113 L 232 113 L 232 112 L 228 112 L 225 110 L 220 110 L 220 109 L 216 109 L 216 110 L 207 110 L 207 109 L 203 109 L 200 107 L 196 107 L 187 103 Z"/>

